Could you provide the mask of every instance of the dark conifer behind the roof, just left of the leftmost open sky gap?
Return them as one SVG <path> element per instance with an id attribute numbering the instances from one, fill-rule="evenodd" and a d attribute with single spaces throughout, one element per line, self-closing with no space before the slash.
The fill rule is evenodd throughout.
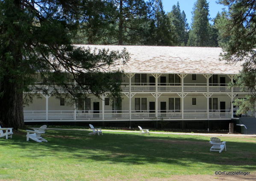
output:
<path id="1" fill-rule="evenodd" d="M 162 0 L 151 0 L 150 27 L 145 44 L 158 46 L 174 45 L 174 27 L 165 14 Z"/>

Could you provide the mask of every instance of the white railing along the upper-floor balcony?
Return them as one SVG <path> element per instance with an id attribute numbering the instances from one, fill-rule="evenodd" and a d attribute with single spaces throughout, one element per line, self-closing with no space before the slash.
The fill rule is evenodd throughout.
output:
<path id="1" fill-rule="evenodd" d="M 153 85 L 152 85 L 153 84 Z M 231 92 L 232 88 L 230 88 L 227 84 L 209 84 L 209 92 Z M 129 92 L 129 83 L 121 83 L 121 91 Z M 59 92 L 66 92 L 66 88 L 64 86 L 46 86 L 46 85 L 34 85 L 29 86 L 31 92 L 37 92 L 48 90 L 54 91 L 57 90 Z M 206 83 L 184 83 L 183 87 L 184 92 L 207 92 Z M 156 85 L 154 83 L 131 83 L 131 92 L 155 92 Z M 159 83 L 157 86 L 158 92 L 181 92 L 182 86 L 180 83 Z M 233 92 L 250 92 L 248 87 L 233 87 Z"/>

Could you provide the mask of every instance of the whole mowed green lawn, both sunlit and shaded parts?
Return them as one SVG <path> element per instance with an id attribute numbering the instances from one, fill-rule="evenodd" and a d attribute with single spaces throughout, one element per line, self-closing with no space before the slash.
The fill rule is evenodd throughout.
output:
<path id="1" fill-rule="evenodd" d="M 140 181 L 215 171 L 256 171 L 256 138 L 220 137 L 227 152 L 209 152 L 209 136 L 47 130 L 48 143 L 21 130 L 0 138 L 0 181 Z"/>

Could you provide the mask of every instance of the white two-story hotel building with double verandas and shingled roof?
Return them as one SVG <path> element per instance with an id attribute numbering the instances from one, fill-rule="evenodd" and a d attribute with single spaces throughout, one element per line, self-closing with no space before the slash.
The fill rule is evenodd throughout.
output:
<path id="1" fill-rule="evenodd" d="M 109 69 L 124 71 L 121 99 L 101 99 L 88 95 L 78 105 L 65 98 L 38 92 L 40 82 L 30 86 L 33 102 L 24 106 L 25 122 L 103 121 L 157 122 L 185 124 L 227 122 L 235 116 L 233 101 L 249 93 L 247 87 L 232 87 L 229 83 L 241 70 L 236 65 L 220 61 L 221 48 L 168 46 L 101 46 L 80 45 L 92 50 L 126 48 L 130 60 Z M 44 87 L 45 88 L 45 87 Z M 46 86 L 48 92 L 53 86 Z M 61 86 L 56 87 L 65 93 Z M 38 97 L 39 95 L 39 97 Z M 248 112 L 253 116 L 253 112 Z M 189 126 L 188 126 L 189 128 Z"/>

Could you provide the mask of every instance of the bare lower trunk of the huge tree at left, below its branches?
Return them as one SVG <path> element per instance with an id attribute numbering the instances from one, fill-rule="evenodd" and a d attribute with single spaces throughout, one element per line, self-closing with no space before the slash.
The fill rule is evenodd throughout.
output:
<path id="1" fill-rule="evenodd" d="M 3 127 L 12 127 L 18 130 L 24 126 L 23 92 L 15 82 L 4 79 L 0 86 L 0 124 Z"/>

